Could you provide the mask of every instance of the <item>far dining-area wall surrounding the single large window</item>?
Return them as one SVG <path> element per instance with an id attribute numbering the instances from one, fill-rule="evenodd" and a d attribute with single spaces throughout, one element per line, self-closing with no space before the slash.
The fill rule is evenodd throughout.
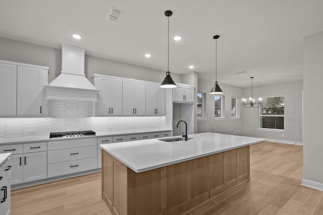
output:
<path id="1" fill-rule="evenodd" d="M 289 82 L 285 84 L 253 87 L 255 98 L 265 96 L 284 96 L 285 132 L 258 131 L 258 108 L 244 108 L 243 135 L 285 141 L 302 142 L 302 90 L 303 82 Z M 245 98 L 251 95 L 251 88 L 244 89 Z M 282 136 L 284 134 L 284 137 Z"/>

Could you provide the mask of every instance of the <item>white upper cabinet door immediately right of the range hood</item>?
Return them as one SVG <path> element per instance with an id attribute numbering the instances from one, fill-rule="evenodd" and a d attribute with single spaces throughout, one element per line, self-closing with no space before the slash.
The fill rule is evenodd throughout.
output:
<path id="1" fill-rule="evenodd" d="M 108 116 L 111 113 L 111 79 L 100 77 L 95 86 L 99 91 L 97 102 L 97 115 Z"/>

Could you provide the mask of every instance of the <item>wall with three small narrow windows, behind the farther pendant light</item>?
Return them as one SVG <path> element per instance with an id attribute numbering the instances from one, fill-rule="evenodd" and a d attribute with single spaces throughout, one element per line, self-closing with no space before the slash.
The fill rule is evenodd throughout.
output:
<path id="1" fill-rule="evenodd" d="M 223 96 L 225 97 L 225 119 L 224 120 L 214 120 L 214 95 L 209 94 L 212 89 L 214 82 L 206 80 L 198 80 L 198 93 L 205 93 L 206 101 L 204 118 L 207 120 L 197 121 L 197 133 L 201 132 L 217 132 L 217 133 L 227 133 L 227 134 L 236 134 L 243 135 L 243 117 L 240 119 L 231 118 L 231 97 L 237 97 L 239 103 L 240 116 L 243 116 L 243 109 L 241 99 L 243 96 L 243 90 L 238 87 L 219 84 L 223 90 Z"/>

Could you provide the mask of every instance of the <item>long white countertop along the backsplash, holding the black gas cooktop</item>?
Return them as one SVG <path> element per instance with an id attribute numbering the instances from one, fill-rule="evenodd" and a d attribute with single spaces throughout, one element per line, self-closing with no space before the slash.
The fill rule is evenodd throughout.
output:
<path id="1" fill-rule="evenodd" d="M 120 130 L 120 131 L 101 131 L 96 132 L 93 136 L 83 136 L 83 137 L 66 137 L 66 138 L 51 138 L 48 136 L 25 136 L 19 138 L 0 138 L 0 145 L 2 144 L 16 144 L 23 142 L 39 142 L 39 141 L 52 141 L 52 140 L 66 140 L 66 139 L 75 139 L 75 138 L 93 138 L 93 137 L 102 137 L 102 136 L 114 136 L 114 135 L 126 135 L 126 134 L 135 134 L 135 133 L 152 133 L 152 132 L 163 132 L 171 131 L 171 129 L 138 129 L 138 130 Z"/>

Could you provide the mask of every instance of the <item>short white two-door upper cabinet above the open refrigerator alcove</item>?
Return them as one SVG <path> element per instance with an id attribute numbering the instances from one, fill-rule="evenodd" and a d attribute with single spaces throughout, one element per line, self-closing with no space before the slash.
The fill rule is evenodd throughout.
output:
<path id="1" fill-rule="evenodd" d="M 173 88 L 173 101 L 194 103 L 194 87 L 177 84 L 177 87 Z"/>

